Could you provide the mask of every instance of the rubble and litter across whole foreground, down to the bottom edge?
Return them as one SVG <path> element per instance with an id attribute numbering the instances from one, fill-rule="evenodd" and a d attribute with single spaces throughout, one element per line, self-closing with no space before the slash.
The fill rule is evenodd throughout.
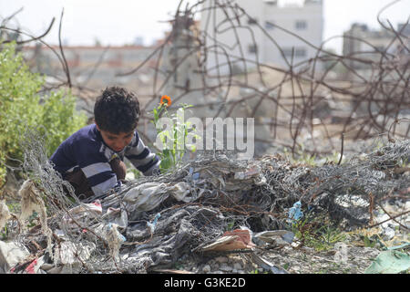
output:
<path id="1" fill-rule="evenodd" d="M 26 151 L 31 178 L 20 196 L 29 202 L 25 210 L 39 218 L 27 228 L 27 212 L 1 214 L 0 223 L 13 237 L 0 241 L 5 273 L 152 273 L 174 271 L 180 263 L 187 273 L 308 273 L 312 270 L 288 255 L 321 257 L 309 253 L 294 229 L 320 214 L 346 231 L 393 228 L 397 234 L 386 235 L 388 240 L 401 231 L 401 244 L 408 243 L 410 141 L 316 167 L 281 155 L 251 161 L 203 155 L 175 172 L 139 178 L 82 201 L 53 172 L 37 142 Z M 388 213 L 386 202 L 402 208 Z M 5 209 L 5 203 L 0 206 Z M 9 256 L 10 250 L 18 252 Z M 348 250 L 354 247 L 336 246 L 325 261 L 346 264 Z M 374 258 L 375 251 L 366 255 Z M 350 271 L 364 272 L 358 265 Z"/>

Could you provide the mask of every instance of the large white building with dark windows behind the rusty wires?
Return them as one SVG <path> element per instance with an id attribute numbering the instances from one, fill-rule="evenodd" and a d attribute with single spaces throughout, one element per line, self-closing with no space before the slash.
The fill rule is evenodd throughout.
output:
<path id="1" fill-rule="evenodd" d="M 292 5 L 277 0 L 208 0 L 203 7 L 200 26 L 207 34 L 210 73 L 217 72 L 216 64 L 221 69 L 227 55 L 234 69 L 255 68 L 256 62 L 289 68 L 315 57 L 315 47 L 323 42 L 322 0 Z"/>

